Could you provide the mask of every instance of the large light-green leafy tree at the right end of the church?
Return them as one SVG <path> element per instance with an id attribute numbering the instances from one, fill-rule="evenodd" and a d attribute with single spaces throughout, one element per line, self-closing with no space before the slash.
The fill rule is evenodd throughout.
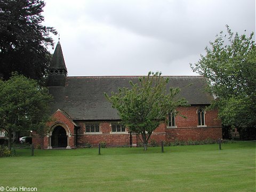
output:
<path id="1" fill-rule="evenodd" d="M 223 125 L 242 129 L 256 128 L 256 49 L 253 33 L 249 37 L 221 31 L 206 55 L 191 68 L 209 79 L 209 91 L 217 100 Z"/>

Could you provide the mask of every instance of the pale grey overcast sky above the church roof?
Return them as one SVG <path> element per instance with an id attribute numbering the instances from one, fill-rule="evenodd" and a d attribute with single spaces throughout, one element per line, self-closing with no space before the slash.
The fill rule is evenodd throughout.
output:
<path id="1" fill-rule="evenodd" d="M 225 25 L 255 33 L 255 0 L 45 0 L 68 76 L 197 75 L 189 63 Z M 255 36 L 254 36 L 255 37 Z M 58 36 L 53 37 L 55 43 Z M 55 45 L 56 45 L 55 44 Z M 53 52 L 52 49 L 50 49 Z"/>

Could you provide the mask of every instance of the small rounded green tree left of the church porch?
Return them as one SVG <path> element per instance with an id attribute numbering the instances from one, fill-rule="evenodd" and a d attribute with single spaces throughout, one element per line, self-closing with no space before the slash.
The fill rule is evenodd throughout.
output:
<path id="1" fill-rule="evenodd" d="M 49 121 L 48 90 L 34 79 L 14 74 L 8 81 L 0 80 L 0 127 L 9 135 L 19 130 L 34 130 L 43 133 Z"/>

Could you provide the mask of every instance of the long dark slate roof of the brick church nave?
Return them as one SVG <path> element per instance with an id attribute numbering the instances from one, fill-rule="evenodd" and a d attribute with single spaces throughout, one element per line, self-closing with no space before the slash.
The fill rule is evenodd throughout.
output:
<path id="1" fill-rule="evenodd" d="M 58 109 L 66 111 L 73 120 L 119 119 L 117 110 L 111 107 L 104 92 L 117 92 L 118 87 L 130 87 L 129 81 L 137 82 L 139 76 L 66 77 L 66 86 L 49 87 L 54 97 L 52 114 Z M 212 95 L 204 91 L 202 76 L 168 76 L 169 86 L 180 87 L 180 97 L 190 105 L 208 105 Z"/>

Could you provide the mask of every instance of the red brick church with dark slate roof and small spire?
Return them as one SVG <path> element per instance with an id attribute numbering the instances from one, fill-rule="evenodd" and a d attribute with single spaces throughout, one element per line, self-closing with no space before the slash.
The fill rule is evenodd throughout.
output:
<path id="1" fill-rule="evenodd" d="M 49 131 L 44 137 L 33 133 L 34 145 L 44 149 L 97 146 L 139 146 L 141 140 L 135 133 L 120 124 L 117 110 L 105 98 L 104 92 L 117 92 L 118 87 L 130 87 L 139 76 L 85 76 L 69 77 L 58 42 L 50 65 L 46 85 L 53 96 Z M 175 140 L 205 140 L 222 138 L 221 121 L 217 110 L 206 110 L 214 99 L 205 92 L 203 76 L 166 76 L 169 87 L 179 87 L 179 97 L 188 101 L 188 107 L 176 110 L 182 116 L 168 117 L 151 135 L 155 142 Z M 149 140 L 149 143 L 150 143 Z M 87 143 L 87 144 L 86 144 Z"/>

